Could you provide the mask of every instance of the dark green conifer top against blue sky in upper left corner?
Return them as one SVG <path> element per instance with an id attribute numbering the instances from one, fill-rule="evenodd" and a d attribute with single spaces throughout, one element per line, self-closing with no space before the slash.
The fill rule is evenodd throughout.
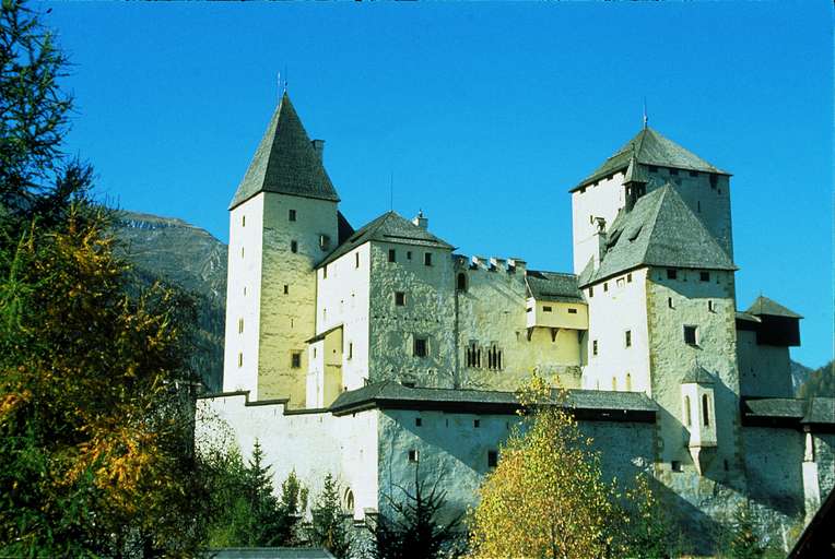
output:
<path id="1" fill-rule="evenodd" d="M 33 217 L 42 226 L 60 219 L 72 200 L 91 187 L 92 168 L 67 158 L 72 98 L 59 80 L 67 56 L 36 14 L 20 0 L 0 4 L 0 217 L 20 227 Z"/>

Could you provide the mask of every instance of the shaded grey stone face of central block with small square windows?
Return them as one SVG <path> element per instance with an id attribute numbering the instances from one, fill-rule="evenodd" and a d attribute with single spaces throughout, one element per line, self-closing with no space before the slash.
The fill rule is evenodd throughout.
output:
<path id="1" fill-rule="evenodd" d="M 455 385 L 454 285 L 449 250 L 372 241 L 368 378 L 396 378 L 421 385 Z M 397 253 L 388 261 L 388 251 Z M 409 259 L 411 253 L 411 259 Z M 432 265 L 424 254 L 432 254 Z M 396 305 L 403 293 L 405 305 Z M 428 355 L 414 355 L 415 338 L 427 340 Z"/>

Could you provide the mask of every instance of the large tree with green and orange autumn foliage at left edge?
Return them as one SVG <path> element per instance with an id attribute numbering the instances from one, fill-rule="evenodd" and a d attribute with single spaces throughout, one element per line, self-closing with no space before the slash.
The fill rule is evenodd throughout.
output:
<path id="1" fill-rule="evenodd" d="M 0 247 L 5 555 L 188 556 L 202 539 L 187 301 L 127 296 L 107 231 L 105 213 L 73 206 Z"/>

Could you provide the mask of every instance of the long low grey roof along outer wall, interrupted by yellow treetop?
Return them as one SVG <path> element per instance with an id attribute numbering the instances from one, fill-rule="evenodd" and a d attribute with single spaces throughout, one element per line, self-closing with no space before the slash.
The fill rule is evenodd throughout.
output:
<path id="1" fill-rule="evenodd" d="M 564 405 L 578 415 L 598 419 L 642 417 L 647 420 L 658 411 L 657 404 L 639 392 L 568 390 Z M 409 388 L 389 380 L 343 392 L 331 404 L 330 411 L 334 415 L 345 415 L 375 407 L 513 414 L 519 403 L 514 392 Z"/>

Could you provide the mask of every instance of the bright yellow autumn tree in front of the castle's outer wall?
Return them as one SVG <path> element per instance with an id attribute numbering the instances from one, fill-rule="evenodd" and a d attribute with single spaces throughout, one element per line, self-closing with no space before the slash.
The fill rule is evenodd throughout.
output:
<path id="1" fill-rule="evenodd" d="M 618 493 L 605 483 L 599 453 L 574 417 L 565 396 L 552 399 L 534 377 L 519 400 L 524 430 L 511 435 L 496 469 L 480 488 L 472 514 L 474 557 L 609 557 L 619 537 Z"/>

